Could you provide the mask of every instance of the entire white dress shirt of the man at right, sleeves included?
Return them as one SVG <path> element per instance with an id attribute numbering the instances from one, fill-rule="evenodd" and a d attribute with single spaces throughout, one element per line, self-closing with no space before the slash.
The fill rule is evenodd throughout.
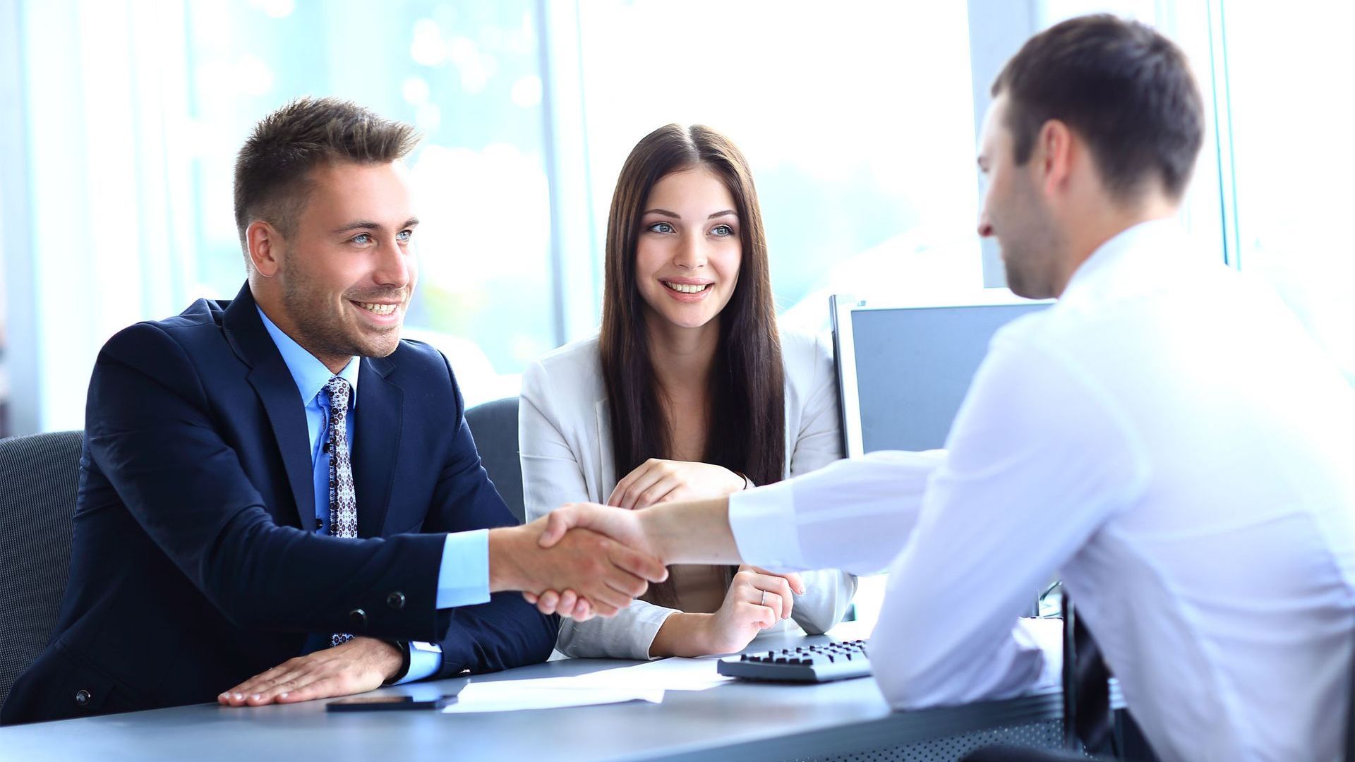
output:
<path id="1" fill-rule="evenodd" d="M 871 637 L 897 708 L 1051 681 L 1057 658 L 1014 622 L 1061 572 L 1161 758 L 1337 759 L 1352 434 L 1355 392 L 1297 319 L 1148 222 L 997 334 L 948 456 L 737 494 L 730 525 L 778 568 L 869 571 L 902 549 Z"/>

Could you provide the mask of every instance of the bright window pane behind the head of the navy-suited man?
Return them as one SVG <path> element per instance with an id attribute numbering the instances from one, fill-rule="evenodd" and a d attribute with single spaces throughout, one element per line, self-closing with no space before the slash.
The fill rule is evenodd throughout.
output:
<path id="1" fill-rule="evenodd" d="M 554 346 L 537 3 L 186 8 L 201 292 L 232 297 L 244 279 L 232 168 L 248 130 L 290 98 L 335 95 L 424 134 L 411 160 L 421 202 L 412 335 L 466 367 L 472 386 Z"/>

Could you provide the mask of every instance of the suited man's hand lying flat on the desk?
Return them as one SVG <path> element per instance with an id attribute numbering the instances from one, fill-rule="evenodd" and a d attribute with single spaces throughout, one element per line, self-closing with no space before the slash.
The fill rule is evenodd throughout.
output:
<path id="1" fill-rule="evenodd" d="M 374 637 L 352 640 L 260 673 L 217 697 L 226 706 L 293 704 L 364 693 L 393 678 L 404 664 L 394 645 Z"/>

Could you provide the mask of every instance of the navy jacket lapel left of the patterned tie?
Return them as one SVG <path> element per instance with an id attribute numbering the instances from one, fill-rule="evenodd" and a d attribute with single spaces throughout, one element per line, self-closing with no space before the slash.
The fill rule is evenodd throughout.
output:
<path id="1" fill-rule="evenodd" d="M 282 361 L 276 344 L 263 327 L 249 283 L 240 289 L 240 294 L 226 308 L 222 329 L 236 354 L 249 366 L 247 378 L 268 414 L 282 466 L 287 472 L 294 503 L 278 506 L 276 519 L 301 527 L 299 506 L 306 506 L 305 513 L 310 515 L 310 506 L 316 504 L 306 409 L 287 363 Z"/>

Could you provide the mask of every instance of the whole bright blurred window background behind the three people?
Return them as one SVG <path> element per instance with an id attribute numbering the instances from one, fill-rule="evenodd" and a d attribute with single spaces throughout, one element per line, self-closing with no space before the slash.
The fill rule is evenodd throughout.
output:
<path id="1" fill-rule="evenodd" d="M 617 174 L 667 122 L 747 153 L 787 323 L 997 286 L 976 122 L 1030 34 L 1089 11 L 1191 56 L 1201 256 L 1272 283 L 1355 378 L 1350 4 L 0 0 L 0 437 L 83 427 L 110 335 L 234 296 L 234 153 L 308 94 L 424 133 L 408 335 L 469 404 L 596 329 Z"/>

